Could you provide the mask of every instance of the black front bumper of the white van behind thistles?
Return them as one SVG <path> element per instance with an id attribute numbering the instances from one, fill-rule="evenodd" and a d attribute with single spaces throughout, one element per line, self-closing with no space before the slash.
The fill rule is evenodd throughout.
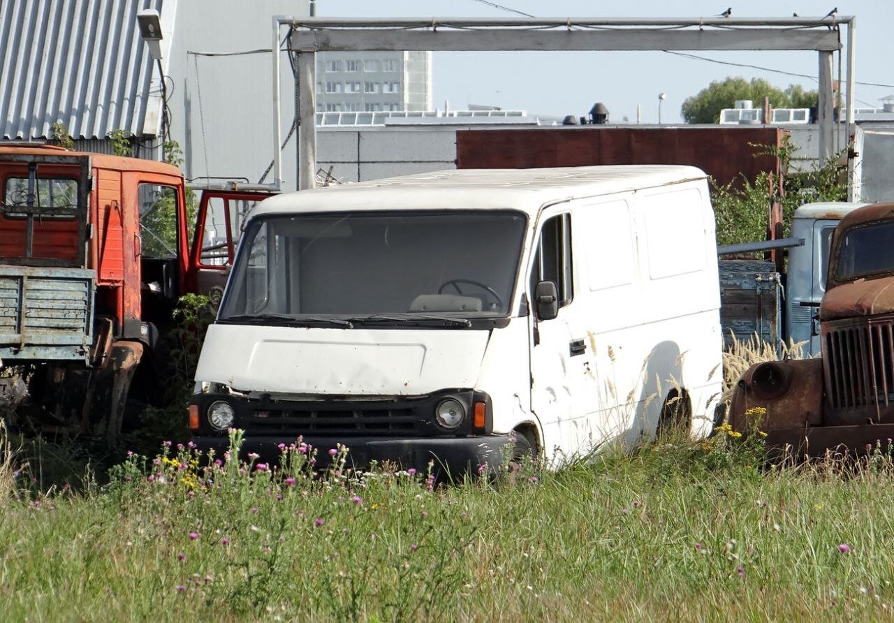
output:
<path id="1" fill-rule="evenodd" d="M 434 463 L 438 476 L 461 476 L 477 473 L 479 466 L 489 469 L 499 467 L 504 455 L 503 447 L 510 442 L 508 434 L 489 434 L 468 437 L 383 439 L 368 436 L 313 436 L 302 441 L 317 450 L 316 468 L 327 467 L 331 458 L 329 450 L 342 443 L 348 447 L 347 466 L 354 470 L 366 470 L 373 461 L 378 464 L 392 461 L 401 469 L 413 467 L 424 472 L 429 462 Z M 215 456 L 223 456 L 230 450 L 227 437 L 196 437 L 199 450 L 215 450 Z M 281 455 L 279 445 L 294 443 L 294 438 L 282 436 L 257 436 L 246 434 L 240 448 L 240 459 L 248 459 L 249 453 L 257 454 L 261 462 L 276 463 Z"/>

